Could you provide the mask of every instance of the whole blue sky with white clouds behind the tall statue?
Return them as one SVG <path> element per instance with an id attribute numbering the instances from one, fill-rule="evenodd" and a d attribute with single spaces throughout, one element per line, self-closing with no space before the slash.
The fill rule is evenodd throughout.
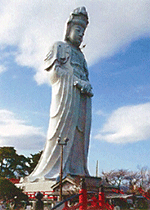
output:
<path id="1" fill-rule="evenodd" d="M 150 167 L 150 1 L 1 0 L 0 146 L 29 156 L 46 142 L 51 86 L 44 58 L 85 6 L 93 86 L 90 174 Z M 82 46 L 81 46 L 82 47 Z"/>

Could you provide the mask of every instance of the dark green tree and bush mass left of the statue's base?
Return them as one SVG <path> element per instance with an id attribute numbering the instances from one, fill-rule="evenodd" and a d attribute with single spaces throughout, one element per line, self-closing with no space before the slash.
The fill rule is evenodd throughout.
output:
<path id="1" fill-rule="evenodd" d="M 14 201 L 27 201 L 28 196 L 17 188 L 8 179 L 20 178 L 30 174 L 38 163 L 42 152 L 25 157 L 16 153 L 14 147 L 0 147 L 0 199 Z"/>

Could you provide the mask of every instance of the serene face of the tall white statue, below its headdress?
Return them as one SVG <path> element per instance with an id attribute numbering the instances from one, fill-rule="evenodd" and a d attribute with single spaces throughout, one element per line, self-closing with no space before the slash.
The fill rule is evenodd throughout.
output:
<path id="1" fill-rule="evenodd" d="M 69 33 L 69 41 L 76 47 L 79 47 L 84 36 L 85 29 L 80 25 L 73 25 Z"/>

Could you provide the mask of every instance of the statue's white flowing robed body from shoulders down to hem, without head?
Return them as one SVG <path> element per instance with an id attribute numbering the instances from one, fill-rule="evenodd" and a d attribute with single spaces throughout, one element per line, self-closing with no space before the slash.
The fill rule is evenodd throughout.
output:
<path id="1" fill-rule="evenodd" d="M 87 156 L 91 127 L 91 85 L 83 53 L 66 42 L 57 42 L 45 59 L 52 85 L 50 122 L 43 154 L 28 177 L 57 178 L 60 171 L 60 145 L 64 146 L 63 175 L 89 175 Z"/>

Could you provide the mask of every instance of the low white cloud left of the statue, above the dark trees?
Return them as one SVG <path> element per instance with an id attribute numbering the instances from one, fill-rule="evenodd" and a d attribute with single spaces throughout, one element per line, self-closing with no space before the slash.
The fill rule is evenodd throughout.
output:
<path id="1" fill-rule="evenodd" d="M 0 146 L 20 150 L 41 150 L 46 136 L 40 127 L 28 125 L 8 110 L 0 110 Z"/>

